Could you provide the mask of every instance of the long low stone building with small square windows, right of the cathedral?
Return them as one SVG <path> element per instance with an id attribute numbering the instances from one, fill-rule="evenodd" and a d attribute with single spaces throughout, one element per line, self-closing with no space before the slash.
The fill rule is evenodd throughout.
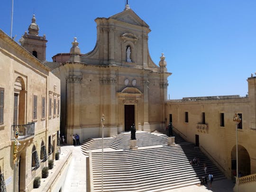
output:
<path id="1" fill-rule="evenodd" d="M 238 171 L 241 175 L 256 174 L 256 77 L 252 75 L 247 82 L 246 97 L 191 97 L 165 103 L 166 119 L 173 122 L 183 138 L 199 146 L 228 178 L 236 173 L 235 113 L 241 119 Z"/>

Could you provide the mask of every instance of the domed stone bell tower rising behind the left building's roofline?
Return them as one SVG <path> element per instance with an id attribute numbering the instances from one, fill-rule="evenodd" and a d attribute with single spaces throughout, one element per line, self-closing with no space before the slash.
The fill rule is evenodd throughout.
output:
<path id="1" fill-rule="evenodd" d="M 29 53 L 37 57 L 40 61 L 46 60 L 46 35 L 38 36 L 39 27 L 36 23 L 35 15 L 33 15 L 32 22 L 28 27 L 28 34 L 25 34 L 19 39 L 21 46 L 23 46 Z"/>

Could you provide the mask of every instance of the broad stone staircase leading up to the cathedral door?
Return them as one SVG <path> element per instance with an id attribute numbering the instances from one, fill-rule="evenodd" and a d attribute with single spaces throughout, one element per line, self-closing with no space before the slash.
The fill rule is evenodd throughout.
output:
<path id="1" fill-rule="evenodd" d="M 129 149 L 130 133 L 124 132 L 104 140 L 104 192 L 161 192 L 200 183 L 206 176 L 203 163 L 214 180 L 224 179 L 219 169 L 193 144 L 174 134 L 176 146 L 167 146 L 161 132 L 136 132 L 137 150 Z M 177 139 L 177 140 L 176 140 Z M 106 143 L 106 145 L 105 145 Z M 95 192 L 101 192 L 101 138 L 88 139 L 82 145 L 84 155 L 92 152 L 92 174 Z M 98 148 L 98 150 L 97 150 Z M 93 150 L 96 149 L 96 150 Z M 108 150 L 109 149 L 109 150 Z M 194 157 L 201 164 L 190 165 Z"/>

